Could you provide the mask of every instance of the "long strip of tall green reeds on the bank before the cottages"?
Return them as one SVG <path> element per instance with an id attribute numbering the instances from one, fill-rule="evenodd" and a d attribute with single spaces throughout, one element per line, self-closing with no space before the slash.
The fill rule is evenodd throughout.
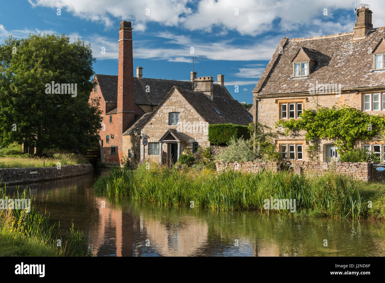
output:
<path id="1" fill-rule="evenodd" d="M 136 170 L 112 168 L 94 188 L 165 206 L 219 210 L 264 210 L 264 199 L 296 199 L 296 212 L 309 216 L 385 219 L 385 189 L 330 173 L 320 178 L 290 172 L 259 174 L 213 170 L 177 171 L 152 163 Z M 372 208 L 368 207 L 372 202 Z M 289 210 L 269 212 L 290 213 Z"/>

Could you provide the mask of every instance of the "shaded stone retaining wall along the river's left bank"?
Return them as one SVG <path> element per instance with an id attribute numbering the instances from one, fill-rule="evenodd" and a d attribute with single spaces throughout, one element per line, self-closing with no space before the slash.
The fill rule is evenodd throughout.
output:
<path id="1" fill-rule="evenodd" d="M 62 179 L 79 176 L 92 172 L 91 164 L 64 165 L 62 169 L 57 167 L 28 167 L 28 168 L 1 168 L 0 180 L 2 186 L 5 184 L 25 184 L 52 179 Z M 32 174 L 31 174 L 32 173 Z"/>

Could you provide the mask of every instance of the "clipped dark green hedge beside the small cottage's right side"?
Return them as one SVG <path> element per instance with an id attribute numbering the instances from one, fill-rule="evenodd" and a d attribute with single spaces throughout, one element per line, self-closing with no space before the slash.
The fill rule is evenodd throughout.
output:
<path id="1" fill-rule="evenodd" d="M 231 137 L 236 139 L 243 137 L 249 139 L 250 133 L 247 126 L 227 124 L 212 124 L 209 125 L 209 141 L 216 146 L 224 146 L 228 144 Z"/>

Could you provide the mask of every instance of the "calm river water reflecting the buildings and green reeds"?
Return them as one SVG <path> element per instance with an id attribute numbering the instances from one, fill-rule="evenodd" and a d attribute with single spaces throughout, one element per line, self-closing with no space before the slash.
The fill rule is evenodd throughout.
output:
<path id="1" fill-rule="evenodd" d="M 74 221 L 95 256 L 385 256 L 382 221 L 139 204 L 94 191 L 99 174 L 29 185 L 32 203 L 63 230 Z"/>

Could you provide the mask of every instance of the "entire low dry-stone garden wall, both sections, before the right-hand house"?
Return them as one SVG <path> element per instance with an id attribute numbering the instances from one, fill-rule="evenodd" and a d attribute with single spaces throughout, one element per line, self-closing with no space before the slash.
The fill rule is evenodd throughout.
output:
<path id="1" fill-rule="evenodd" d="M 362 181 L 385 181 L 385 172 L 376 172 L 371 163 L 365 162 L 318 162 L 318 161 L 290 161 L 290 167 L 297 174 L 323 176 L 326 172 L 334 170 L 338 174 L 351 176 Z M 282 162 L 216 162 L 218 172 L 242 171 L 247 173 L 258 173 L 262 168 L 278 172 L 283 169 Z"/>

